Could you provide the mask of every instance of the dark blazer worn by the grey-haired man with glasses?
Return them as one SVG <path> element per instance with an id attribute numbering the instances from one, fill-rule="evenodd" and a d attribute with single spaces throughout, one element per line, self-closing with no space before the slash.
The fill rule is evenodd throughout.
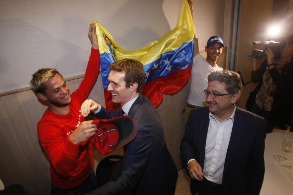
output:
<path id="1" fill-rule="evenodd" d="M 190 111 L 180 149 L 185 165 L 194 158 L 204 168 L 209 107 Z M 223 194 L 259 194 L 265 172 L 265 120 L 236 107 L 222 178 Z M 197 191 L 201 182 L 191 179 Z M 196 194 L 196 192 L 194 193 Z"/>

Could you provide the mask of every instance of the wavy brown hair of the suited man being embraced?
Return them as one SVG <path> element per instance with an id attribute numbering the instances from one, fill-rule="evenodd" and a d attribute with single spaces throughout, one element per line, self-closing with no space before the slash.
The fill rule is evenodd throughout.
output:
<path id="1" fill-rule="evenodd" d="M 145 83 L 145 72 L 144 66 L 140 61 L 125 58 L 111 64 L 109 69 L 117 72 L 124 71 L 124 81 L 126 82 L 126 88 L 129 88 L 130 85 L 136 82 L 138 84 L 136 92 L 140 93 L 142 91 Z"/>

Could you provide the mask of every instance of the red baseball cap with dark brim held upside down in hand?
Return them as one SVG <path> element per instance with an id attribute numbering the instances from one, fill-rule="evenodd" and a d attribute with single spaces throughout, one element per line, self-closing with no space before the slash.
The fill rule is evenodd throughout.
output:
<path id="1" fill-rule="evenodd" d="M 90 141 L 103 155 L 129 143 L 137 133 L 134 122 L 129 115 L 98 119 L 92 123 L 98 126 L 98 132 L 90 138 Z"/>

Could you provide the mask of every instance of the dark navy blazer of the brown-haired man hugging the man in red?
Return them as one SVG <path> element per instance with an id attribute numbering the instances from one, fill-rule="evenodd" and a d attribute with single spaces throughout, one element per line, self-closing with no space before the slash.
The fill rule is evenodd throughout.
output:
<path id="1" fill-rule="evenodd" d="M 112 112 L 102 108 L 95 116 L 109 119 L 120 115 L 119 107 Z M 166 147 L 154 105 L 139 94 L 128 115 L 133 118 L 137 135 L 125 147 L 120 175 L 88 194 L 174 194 L 178 170 Z"/>

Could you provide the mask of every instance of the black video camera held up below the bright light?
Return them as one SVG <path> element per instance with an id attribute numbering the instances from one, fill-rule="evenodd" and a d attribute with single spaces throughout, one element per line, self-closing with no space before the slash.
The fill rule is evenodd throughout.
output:
<path id="1" fill-rule="evenodd" d="M 253 45 L 259 45 L 263 46 L 265 49 L 261 50 L 261 49 L 253 49 L 251 56 L 252 58 L 255 59 L 262 59 L 263 57 L 267 56 L 265 54 L 265 50 L 268 50 L 270 48 L 270 50 L 272 51 L 272 53 L 274 54 L 274 60 L 280 57 L 280 49 L 284 48 L 286 46 L 285 42 L 276 42 L 276 41 L 254 41 L 252 43 Z"/>

